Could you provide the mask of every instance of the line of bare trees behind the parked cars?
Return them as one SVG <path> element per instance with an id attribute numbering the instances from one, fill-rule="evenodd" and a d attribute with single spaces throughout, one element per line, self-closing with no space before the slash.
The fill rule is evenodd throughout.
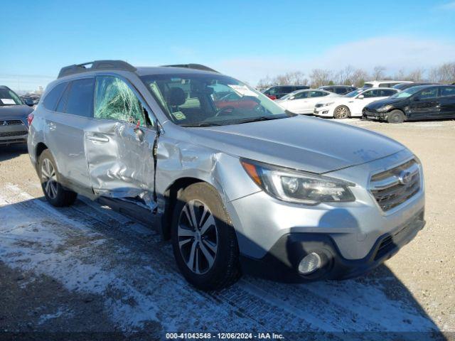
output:
<path id="1" fill-rule="evenodd" d="M 306 75 L 301 71 L 286 72 L 275 77 L 264 77 L 257 83 L 257 87 L 271 87 L 273 85 L 309 85 L 321 87 L 322 85 L 353 85 L 362 87 L 367 80 L 412 80 L 414 82 L 430 81 L 440 83 L 455 82 L 455 62 L 444 63 L 429 70 L 416 68 L 405 71 L 398 70 L 394 74 L 387 74 L 387 69 L 381 65 L 375 66 L 372 72 L 355 68 L 351 65 L 342 70 L 313 69 Z"/>

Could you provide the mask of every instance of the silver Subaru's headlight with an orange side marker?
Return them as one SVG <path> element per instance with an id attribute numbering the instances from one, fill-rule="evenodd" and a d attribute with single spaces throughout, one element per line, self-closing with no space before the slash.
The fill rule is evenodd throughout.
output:
<path id="1" fill-rule="evenodd" d="M 353 183 L 245 159 L 241 163 L 260 188 L 279 200 L 306 205 L 355 200 L 348 188 Z"/>

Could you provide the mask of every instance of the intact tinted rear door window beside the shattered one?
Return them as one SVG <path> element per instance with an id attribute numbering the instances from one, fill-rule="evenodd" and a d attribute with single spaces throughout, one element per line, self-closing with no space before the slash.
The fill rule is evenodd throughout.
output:
<path id="1" fill-rule="evenodd" d="M 82 117 L 93 117 L 94 78 L 73 80 L 66 101 L 65 112 Z"/>

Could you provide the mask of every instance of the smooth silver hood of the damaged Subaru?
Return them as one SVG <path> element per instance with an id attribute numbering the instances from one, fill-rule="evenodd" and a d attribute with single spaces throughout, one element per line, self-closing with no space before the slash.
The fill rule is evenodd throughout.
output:
<path id="1" fill-rule="evenodd" d="M 302 116 L 187 129 L 193 143 L 313 173 L 370 162 L 405 148 L 372 131 Z"/>

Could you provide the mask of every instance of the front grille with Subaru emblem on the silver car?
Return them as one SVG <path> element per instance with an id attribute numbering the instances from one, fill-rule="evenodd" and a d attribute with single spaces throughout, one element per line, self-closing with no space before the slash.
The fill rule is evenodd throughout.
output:
<path id="1" fill-rule="evenodd" d="M 419 190 L 419 166 L 415 160 L 375 174 L 370 180 L 370 191 L 383 211 L 401 205 Z"/>

